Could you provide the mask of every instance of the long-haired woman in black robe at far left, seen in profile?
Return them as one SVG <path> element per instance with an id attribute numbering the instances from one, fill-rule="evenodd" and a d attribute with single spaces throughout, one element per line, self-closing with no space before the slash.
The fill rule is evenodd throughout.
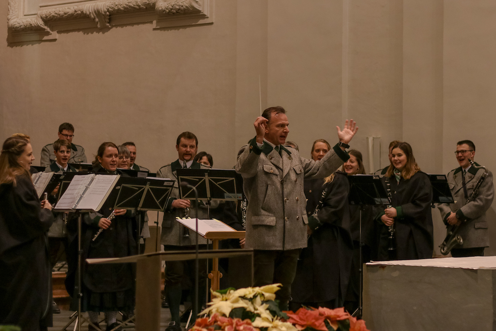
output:
<path id="1" fill-rule="evenodd" d="M 52 326 L 52 270 L 47 231 L 52 205 L 40 202 L 29 173 L 31 144 L 5 140 L 0 154 L 0 325 Z"/>

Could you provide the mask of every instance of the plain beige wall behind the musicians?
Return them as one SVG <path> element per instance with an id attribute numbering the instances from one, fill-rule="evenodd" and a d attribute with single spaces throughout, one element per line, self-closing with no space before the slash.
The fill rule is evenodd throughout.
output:
<path id="1" fill-rule="evenodd" d="M 209 25 L 135 24 L 16 45 L 5 24 L 0 140 L 31 135 L 38 164 L 71 122 L 90 159 L 103 141 L 133 140 L 137 163 L 157 170 L 177 159 L 176 137 L 188 130 L 215 167 L 231 168 L 261 103 L 288 110 L 289 139 L 307 157 L 313 140 L 334 144 L 335 126 L 354 118 L 352 147 L 366 164 L 366 137 L 379 136 L 381 165 L 399 139 L 424 171 L 447 173 L 456 141 L 468 138 L 495 170 L 495 14 L 492 0 L 215 0 Z M 433 215 L 437 249 L 444 227 Z M 489 215 L 495 255 L 494 206 Z"/>

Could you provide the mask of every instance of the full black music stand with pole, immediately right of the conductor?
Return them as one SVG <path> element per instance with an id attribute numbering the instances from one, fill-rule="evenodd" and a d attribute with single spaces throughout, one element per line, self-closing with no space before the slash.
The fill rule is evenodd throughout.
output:
<path id="1" fill-rule="evenodd" d="M 353 316 L 362 316 L 363 298 L 362 298 L 362 281 L 363 269 L 362 264 L 362 210 L 366 205 L 381 205 L 387 204 L 386 190 L 382 186 L 379 176 L 376 175 L 354 175 L 348 176 L 350 183 L 349 203 L 360 206 L 360 286 L 359 286 L 359 306 L 353 312 Z"/>

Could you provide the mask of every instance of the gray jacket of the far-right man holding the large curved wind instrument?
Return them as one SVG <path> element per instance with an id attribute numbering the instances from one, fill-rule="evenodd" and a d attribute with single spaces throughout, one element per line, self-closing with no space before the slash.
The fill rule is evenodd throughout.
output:
<path id="1" fill-rule="evenodd" d="M 477 167 L 480 165 L 475 163 Z M 457 231 L 463 239 L 463 245 L 457 245 L 455 248 L 475 248 L 489 247 L 489 231 L 486 219 L 486 211 L 491 207 L 495 196 L 493 185 L 493 173 L 489 174 L 482 182 L 479 192 L 475 199 L 467 203 L 462 186 L 462 167 L 451 170 L 448 173 L 448 185 L 456 203 L 437 204 L 441 212 L 442 220 L 446 223 L 446 218 L 450 211 L 456 212 L 456 217 L 462 220 L 462 224 Z M 467 196 L 470 197 L 475 185 L 484 173 L 484 169 L 476 168 L 473 165 L 468 169 L 465 175 L 465 185 L 467 187 Z M 463 222 L 466 220 L 466 222 Z"/>

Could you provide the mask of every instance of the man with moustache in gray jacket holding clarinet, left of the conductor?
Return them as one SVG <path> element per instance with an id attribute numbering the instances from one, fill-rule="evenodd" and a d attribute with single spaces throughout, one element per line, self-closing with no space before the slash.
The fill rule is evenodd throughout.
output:
<path id="1" fill-rule="evenodd" d="M 195 216 L 196 208 L 189 200 L 179 199 L 178 186 L 178 168 L 203 169 L 199 163 L 193 161 L 198 150 L 198 139 L 191 132 L 183 132 L 178 136 L 176 149 L 179 158 L 160 168 L 157 171 L 157 177 L 175 179 L 174 188 L 171 191 L 171 196 L 167 202 L 162 221 L 162 237 L 160 243 L 164 245 L 166 251 L 194 250 L 196 243 L 196 233 L 189 231 L 176 220 L 176 217 L 185 217 L 186 208 L 188 208 L 189 217 Z M 198 218 L 204 219 L 207 217 L 206 208 L 199 206 Z M 198 236 L 198 244 L 206 245 L 205 238 Z M 181 295 L 185 279 L 194 281 L 194 269 L 192 266 L 194 261 L 168 261 L 165 268 L 165 291 L 169 302 L 172 322 L 167 327 L 167 331 L 180 331 L 180 310 Z M 205 288 L 206 269 L 205 263 L 200 263 L 199 289 Z M 187 272 L 189 268 L 190 272 Z M 194 284 L 194 282 L 192 283 Z M 204 293 L 200 293 L 198 301 L 202 301 Z M 201 302 L 198 304 L 201 308 Z"/>

